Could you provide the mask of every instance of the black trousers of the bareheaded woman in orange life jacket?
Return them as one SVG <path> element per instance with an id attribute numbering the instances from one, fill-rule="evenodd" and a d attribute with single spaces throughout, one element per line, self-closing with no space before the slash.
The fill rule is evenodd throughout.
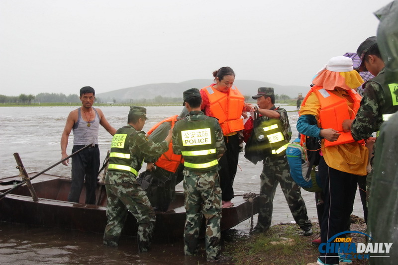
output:
<path id="1" fill-rule="evenodd" d="M 236 168 L 239 160 L 239 137 L 238 134 L 224 136 L 224 142 L 227 150 L 218 161 L 221 169 L 218 171 L 220 176 L 220 186 L 222 191 L 222 200 L 230 201 L 233 196 L 233 180 L 236 175 Z"/>

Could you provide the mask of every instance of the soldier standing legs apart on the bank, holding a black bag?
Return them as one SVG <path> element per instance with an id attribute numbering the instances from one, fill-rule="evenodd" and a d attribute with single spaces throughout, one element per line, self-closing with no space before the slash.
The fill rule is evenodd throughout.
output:
<path id="1" fill-rule="evenodd" d="M 271 226 L 273 200 L 278 183 L 281 184 L 286 202 L 296 223 L 304 231 L 304 236 L 312 235 L 312 225 L 308 220 L 307 208 L 301 197 L 300 187 L 290 176 L 290 168 L 286 158 L 286 148 L 292 136 L 288 113 L 285 109 L 275 107 L 274 88 L 258 88 L 257 95 L 258 112 L 262 116 L 261 127 L 270 141 L 270 149 L 266 150 L 266 157 L 263 162 L 260 187 L 260 212 L 256 227 L 250 234 L 257 234 L 267 231 Z M 257 107 L 254 107 L 257 111 Z M 266 131 L 266 128 L 267 129 Z"/>

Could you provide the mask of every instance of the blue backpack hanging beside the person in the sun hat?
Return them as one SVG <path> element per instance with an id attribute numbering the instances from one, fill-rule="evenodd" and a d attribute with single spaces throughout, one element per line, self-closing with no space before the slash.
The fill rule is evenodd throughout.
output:
<path id="1" fill-rule="evenodd" d="M 310 192 L 322 191 L 320 183 L 318 183 L 319 177 L 315 173 L 314 160 L 316 156 L 312 155 L 311 160 L 308 161 L 307 152 L 300 145 L 299 138 L 288 145 L 286 157 L 290 167 L 290 175 L 300 187 Z M 317 163 L 319 164 L 319 159 Z"/>

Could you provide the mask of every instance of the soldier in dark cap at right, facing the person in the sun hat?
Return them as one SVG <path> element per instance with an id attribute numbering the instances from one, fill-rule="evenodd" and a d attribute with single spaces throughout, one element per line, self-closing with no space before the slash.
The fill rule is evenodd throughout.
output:
<path id="1" fill-rule="evenodd" d="M 354 120 L 344 120 L 344 131 L 350 131 L 354 140 L 374 141 L 373 132 L 379 131 L 383 121 L 398 111 L 398 97 L 394 91 L 397 83 L 385 82 L 385 63 L 379 51 L 376 37 L 367 38 L 358 47 L 357 54 L 362 60 L 359 71 L 369 71 L 375 77 L 363 84 L 364 93 Z M 376 146 L 374 147 L 376 148 Z M 367 177 L 369 196 L 373 173 Z"/>

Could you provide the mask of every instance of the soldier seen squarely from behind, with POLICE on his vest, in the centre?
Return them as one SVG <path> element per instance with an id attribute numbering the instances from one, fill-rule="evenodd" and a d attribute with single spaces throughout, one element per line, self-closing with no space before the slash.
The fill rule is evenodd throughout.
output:
<path id="1" fill-rule="evenodd" d="M 184 157 L 184 194 L 187 220 L 184 253 L 198 253 L 202 215 L 206 220 L 206 256 L 209 262 L 222 262 L 220 255 L 221 188 L 218 161 L 225 152 L 217 119 L 200 111 L 199 89 L 184 91 L 184 105 L 189 114 L 173 128 L 173 151 Z"/>

